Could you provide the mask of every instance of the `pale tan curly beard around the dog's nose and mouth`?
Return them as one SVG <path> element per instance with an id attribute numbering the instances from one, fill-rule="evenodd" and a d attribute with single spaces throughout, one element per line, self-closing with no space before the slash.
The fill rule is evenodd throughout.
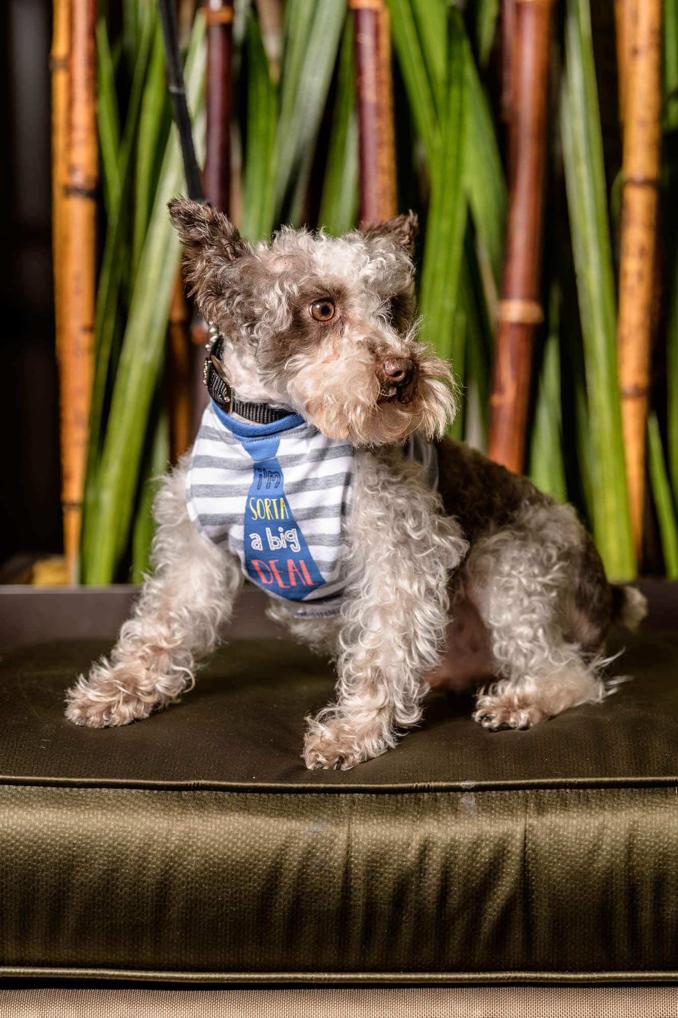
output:
<path id="1" fill-rule="evenodd" d="M 373 355 L 357 346 L 347 353 L 319 351 L 313 359 L 294 357 L 287 389 L 304 416 L 331 439 L 354 446 L 402 442 L 419 429 L 442 438 L 456 412 L 454 383 L 448 364 L 422 344 L 407 350 L 416 364 L 412 394 L 384 399 Z"/>

